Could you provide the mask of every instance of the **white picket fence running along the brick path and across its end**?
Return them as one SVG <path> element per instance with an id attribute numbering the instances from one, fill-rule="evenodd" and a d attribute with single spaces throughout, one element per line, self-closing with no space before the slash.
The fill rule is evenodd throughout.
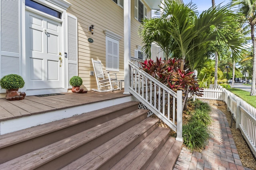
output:
<path id="1" fill-rule="evenodd" d="M 218 87 L 217 89 L 206 88 L 200 99 L 222 100 L 236 121 L 236 128 L 240 128 L 247 144 L 256 156 L 256 109 L 234 95 L 230 91 Z"/>

